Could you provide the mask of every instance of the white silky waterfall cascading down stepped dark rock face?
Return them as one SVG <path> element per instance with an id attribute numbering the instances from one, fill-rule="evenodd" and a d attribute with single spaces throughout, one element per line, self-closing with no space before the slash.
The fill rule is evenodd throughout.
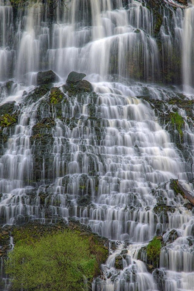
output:
<path id="1" fill-rule="evenodd" d="M 194 24 L 186 22 L 193 7 L 159 5 L 156 12 L 133 0 L 72 0 L 53 21 L 42 7 L 26 6 L 15 17 L 9 2 L 0 2 L 0 97 L 18 112 L 17 124 L 1 132 L 1 224 L 70 216 L 118 241 L 94 291 L 192 290 L 193 211 L 169 180 L 193 189 L 186 183 L 193 178 L 193 123 L 180 108 L 182 133 L 159 122 L 153 104 L 163 104 L 167 118 L 177 93 L 150 82 L 179 85 L 183 72 L 184 84 L 193 85 Z M 36 73 L 48 69 L 62 92 L 74 70 L 88 74 L 96 93 L 65 94 L 58 107 L 43 89 L 35 97 Z M 155 235 L 165 245 L 149 273 L 138 251 Z"/>

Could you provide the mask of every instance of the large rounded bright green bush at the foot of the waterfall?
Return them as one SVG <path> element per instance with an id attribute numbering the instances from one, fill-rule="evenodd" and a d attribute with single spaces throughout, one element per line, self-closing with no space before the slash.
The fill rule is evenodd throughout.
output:
<path id="1" fill-rule="evenodd" d="M 39 241 L 28 236 L 19 240 L 19 233 L 16 238 L 6 263 L 13 290 L 80 291 L 96 274 L 98 262 L 90 240 L 79 232 L 65 230 Z"/>

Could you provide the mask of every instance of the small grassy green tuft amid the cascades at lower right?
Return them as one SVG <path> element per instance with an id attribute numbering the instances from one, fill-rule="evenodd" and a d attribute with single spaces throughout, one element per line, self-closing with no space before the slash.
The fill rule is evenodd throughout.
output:
<path id="1" fill-rule="evenodd" d="M 159 261 L 160 249 L 161 242 L 155 236 L 146 248 L 148 259 L 152 262 L 153 265 L 157 264 Z"/>

